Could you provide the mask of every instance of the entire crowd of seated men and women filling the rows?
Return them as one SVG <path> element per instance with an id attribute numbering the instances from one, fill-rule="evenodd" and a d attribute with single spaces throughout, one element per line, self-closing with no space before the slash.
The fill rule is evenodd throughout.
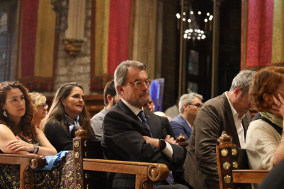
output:
<path id="1" fill-rule="evenodd" d="M 145 69 L 137 61 L 121 62 L 114 81 L 106 84 L 106 107 L 92 120 L 77 82 L 58 88 L 48 113 L 43 94 L 28 93 L 18 81 L 2 82 L 0 153 L 51 156 L 66 151 L 58 166 L 35 172 L 34 188 L 75 188 L 72 150 L 80 126 L 91 140 L 102 140 L 107 160 L 166 164 L 169 177 L 155 181 L 154 188 L 220 188 L 215 147 L 222 131 L 246 149 L 252 169 L 272 169 L 284 159 L 284 68 L 241 71 L 228 92 L 204 105 L 201 95 L 182 95 L 180 114 L 171 122 L 163 112 L 154 114 Z M 259 113 L 250 122 L 252 105 Z M 180 134 L 189 142 L 187 152 L 175 140 Z M 0 186 L 19 188 L 19 170 L 20 165 L 0 164 Z M 175 172 L 180 176 L 180 170 L 181 182 Z M 106 179 L 107 188 L 135 185 L 134 175 L 109 173 Z"/>

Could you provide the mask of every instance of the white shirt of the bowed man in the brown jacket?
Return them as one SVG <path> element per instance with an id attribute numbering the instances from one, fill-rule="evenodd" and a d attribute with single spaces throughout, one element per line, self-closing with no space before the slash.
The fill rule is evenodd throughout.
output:
<path id="1" fill-rule="evenodd" d="M 226 97 L 228 99 L 228 95 L 227 92 L 225 92 Z M 230 110 L 232 110 L 232 114 L 233 114 L 233 118 L 234 118 L 234 122 L 235 122 L 235 126 L 237 129 L 237 135 L 239 136 L 239 144 L 241 144 L 241 148 L 245 149 L 246 148 L 246 142 L 245 142 L 245 137 L 244 137 L 244 127 L 243 124 L 241 123 L 241 121 L 243 120 L 244 116 L 239 116 L 239 114 L 237 113 L 237 111 L 235 110 L 235 108 L 233 107 L 233 105 L 230 103 L 230 100 L 228 99 L 228 102 L 230 104 Z"/>

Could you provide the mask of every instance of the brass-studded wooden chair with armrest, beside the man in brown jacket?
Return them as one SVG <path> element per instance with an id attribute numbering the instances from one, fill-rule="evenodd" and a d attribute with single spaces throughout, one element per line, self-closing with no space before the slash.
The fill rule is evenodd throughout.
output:
<path id="1" fill-rule="evenodd" d="M 232 137 L 223 131 L 216 146 L 220 188 L 250 188 L 251 183 L 261 183 L 268 170 L 250 170 L 246 149 L 236 147 Z"/>

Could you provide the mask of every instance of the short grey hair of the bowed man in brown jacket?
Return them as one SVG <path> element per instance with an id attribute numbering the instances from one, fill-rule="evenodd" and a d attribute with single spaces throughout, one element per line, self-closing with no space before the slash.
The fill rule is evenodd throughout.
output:
<path id="1" fill-rule="evenodd" d="M 235 88 L 241 88 L 241 97 L 248 94 L 250 85 L 252 84 L 252 77 L 255 76 L 255 71 L 240 71 L 239 74 L 233 79 L 230 91 Z"/>

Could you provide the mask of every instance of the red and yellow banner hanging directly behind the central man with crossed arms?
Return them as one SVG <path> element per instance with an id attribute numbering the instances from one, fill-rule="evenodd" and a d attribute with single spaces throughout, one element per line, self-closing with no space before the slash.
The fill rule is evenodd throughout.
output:
<path id="1" fill-rule="evenodd" d="M 91 90 L 103 90 L 123 60 L 132 58 L 134 0 L 93 0 Z"/>

